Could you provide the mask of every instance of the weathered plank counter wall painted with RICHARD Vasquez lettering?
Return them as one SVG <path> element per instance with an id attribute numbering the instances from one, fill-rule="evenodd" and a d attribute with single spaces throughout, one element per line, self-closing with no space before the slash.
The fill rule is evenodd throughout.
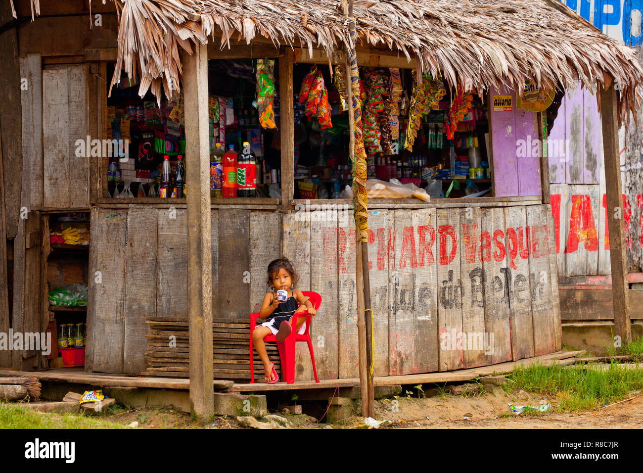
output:
<path id="1" fill-rule="evenodd" d="M 175 218 L 170 211 L 93 210 L 90 274 L 102 272 L 102 284 L 90 282 L 94 371 L 137 374 L 145 317 L 186 317 L 185 210 Z M 376 375 L 555 351 L 550 213 L 546 205 L 370 210 Z M 300 276 L 297 288 L 322 297 L 311 326 L 319 378 L 358 376 L 352 210 L 212 210 L 212 222 L 217 317 L 246 320 L 256 311 L 267 264 L 285 254 Z M 305 344 L 295 366 L 296 380 L 312 379 Z"/>

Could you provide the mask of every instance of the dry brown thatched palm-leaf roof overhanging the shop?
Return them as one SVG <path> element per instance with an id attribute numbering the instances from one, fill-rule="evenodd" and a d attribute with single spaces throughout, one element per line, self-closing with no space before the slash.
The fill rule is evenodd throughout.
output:
<path id="1" fill-rule="evenodd" d="M 32 0 L 37 6 L 39 0 Z M 265 37 L 275 44 L 321 48 L 348 40 L 340 0 L 112 0 L 120 15 L 118 64 L 141 75 L 141 94 L 168 91 L 181 76 L 179 48 L 230 46 Z M 105 0 L 103 0 L 105 2 Z M 635 52 L 606 37 L 556 0 L 354 0 L 361 44 L 417 57 L 451 86 L 537 85 L 590 89 L 615 79 L 620 118 L 638 106 L 643 68 Z M 359 48 L 359 44 L 358 44 Z"/>

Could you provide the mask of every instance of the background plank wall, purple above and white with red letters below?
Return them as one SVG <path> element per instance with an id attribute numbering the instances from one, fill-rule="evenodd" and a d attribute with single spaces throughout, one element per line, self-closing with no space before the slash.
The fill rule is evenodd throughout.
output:
<path id="1" fill-rule="evenodd" d="M 558 275 L 610 274 L 602 129 L 596 96 L 580 86 L 566 91 L 548 141 Z M 626 229 L 640 228 L 640 221 L 633 222 L 632 212 L 640 199 L 623 199 Z M 640 252 L 640 239 L 628 238 L 626 245 L 628 252 Z"/>

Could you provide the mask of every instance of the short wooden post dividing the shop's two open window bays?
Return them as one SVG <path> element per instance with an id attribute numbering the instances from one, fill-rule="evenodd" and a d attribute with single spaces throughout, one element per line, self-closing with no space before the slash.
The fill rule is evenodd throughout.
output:
<path id="1" fill-rule="evenodd" d="M 293 50 L 279 57 L 279 127 L 281 133 L 282 207 L 288 209 L 294 195 Z"/>

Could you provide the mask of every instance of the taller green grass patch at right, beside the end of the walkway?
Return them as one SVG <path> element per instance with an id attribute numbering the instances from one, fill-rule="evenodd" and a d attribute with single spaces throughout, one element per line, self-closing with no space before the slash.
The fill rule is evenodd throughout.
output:
<path id="1" fill-rule="evenodd" d="M 506 391 L 523 389 L 529 393 L 556 395 L 557 411 L 588 411 L 605 403 L 626 398 L 643 389 L 643 369 L 619 368 L 612 362 L 608 369 L 585 368 L 583 364 L 563 367 L 539 364 L 516 367 Z"/>

